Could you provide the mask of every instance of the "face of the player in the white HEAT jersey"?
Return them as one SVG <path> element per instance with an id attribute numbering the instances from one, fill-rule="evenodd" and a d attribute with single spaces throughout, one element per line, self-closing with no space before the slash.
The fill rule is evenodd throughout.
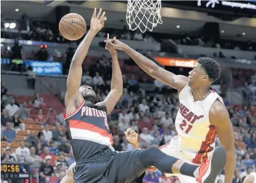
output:
<path id="1" fill-rule="evenodd" d="M 204 81 L 209 80 L 204 68 L 200 63 L 197 63 L 195 67 L 189 72 L 189 86 L 196 87 L 202 85 Z"/>

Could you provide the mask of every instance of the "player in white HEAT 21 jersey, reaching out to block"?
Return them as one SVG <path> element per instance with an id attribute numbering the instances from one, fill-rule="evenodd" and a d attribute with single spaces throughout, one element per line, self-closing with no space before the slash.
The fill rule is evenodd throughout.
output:
<path id="1" fill-rule="evenodd" d="M 220 76 L 220 65 L 212 58 L 199 58 L 189 77 L 181 76 L 159 67 L 115 38 L 110 44 L 126 52 L 147 74 L 179 92 L 180 110 L 175 122 L 178 136 L 162 151 L 192 164 L 202 164 L 209 160 L 218 136 L 227 154 L 225 183 L 232 182 L 235 170 L 233 127 L 222 98 L 211 90 L 211 84 Z M 207 173 L 213 171 L 213 164 L 207 168 Z M 184 183 L 196 182 L 196 178 L 178 177 Z"/>

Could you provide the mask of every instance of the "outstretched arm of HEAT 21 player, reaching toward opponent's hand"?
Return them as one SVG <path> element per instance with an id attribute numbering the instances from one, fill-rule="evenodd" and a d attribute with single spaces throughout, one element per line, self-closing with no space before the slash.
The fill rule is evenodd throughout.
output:
<path id="1" fill-rule="evenodd" d="M 123 50 L 143 69 L 147 74 L 155 78 L 156 80 L 169 85 L 170 87 L 177 89 L 179 92 L 187 85 L 188 78 L 186 76 L 176 75 L 168 70 L 159 67 L 154 61 L 146 58 L 139 52 L 130 48 L 128 45 L 122 43 L 117 39 L 111 41 L 111 47 Z"/>

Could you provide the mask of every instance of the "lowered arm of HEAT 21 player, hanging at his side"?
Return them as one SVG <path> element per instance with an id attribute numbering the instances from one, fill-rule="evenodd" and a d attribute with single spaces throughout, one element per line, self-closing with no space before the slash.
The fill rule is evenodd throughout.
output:
<path id="1" fill-rule="evenodd" d="M 233 135 L 233 125 L 229 119 L 229 113 L 219 100 L 213 103 L 209 112 L 209 119 L 212 125 L 215 125 L 220 144 L 227 153 L 227 162 L 225 167 L 225 183 L 233 180 L 235 171 L 235 142 Z"/>

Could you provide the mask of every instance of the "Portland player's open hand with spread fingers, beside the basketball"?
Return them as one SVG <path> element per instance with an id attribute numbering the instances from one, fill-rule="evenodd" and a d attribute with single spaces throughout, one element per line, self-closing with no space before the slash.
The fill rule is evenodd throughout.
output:
<path id="1" fill-rule="evenodd" d="M 94 8 L 93 16 L 91 16 L 90 30 L 93 30 L 97 33 L 104 27 L 104 23 L 107 20 L 107 18 L 105 17 L 105 12 L 103 12 L 103 13 L 101 13 L 101 12 L 102 12 L 102 9 L 100 8 L 100 10 L 97 14 L 97 9 Z"/>

